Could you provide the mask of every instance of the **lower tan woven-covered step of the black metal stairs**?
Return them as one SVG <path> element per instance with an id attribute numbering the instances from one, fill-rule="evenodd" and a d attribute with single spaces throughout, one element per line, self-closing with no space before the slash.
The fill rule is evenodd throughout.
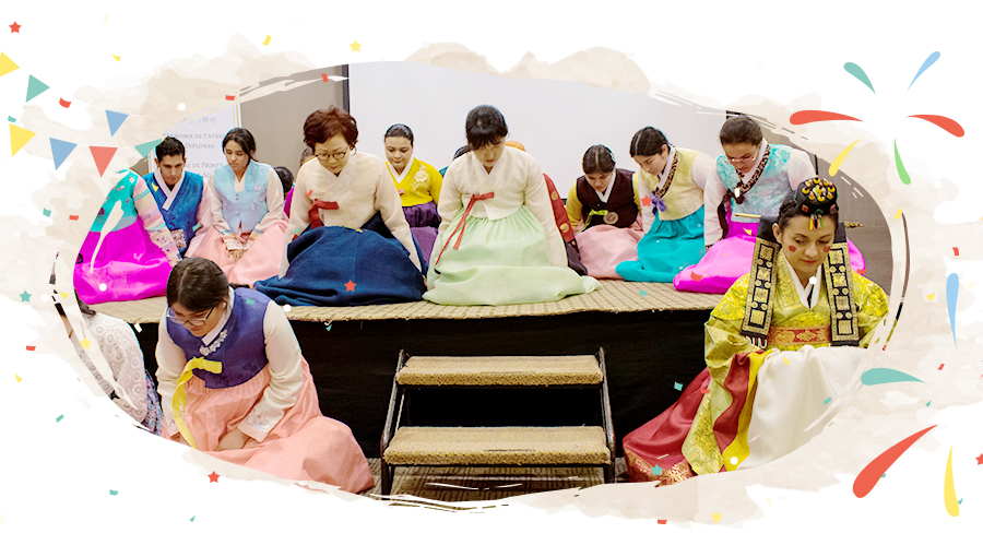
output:
<path id="1" fill-rule="evenodd" d="M 404 426 L 382 458 L 394 465 L 575 465 L 609 464 L 611 451 L 600 426 Z"/>

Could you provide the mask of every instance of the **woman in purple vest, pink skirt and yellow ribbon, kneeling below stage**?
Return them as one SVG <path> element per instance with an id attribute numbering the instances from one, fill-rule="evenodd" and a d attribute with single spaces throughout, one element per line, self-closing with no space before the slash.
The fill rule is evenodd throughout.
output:
<path id="1" fill-rule="evenodd" d="M 215 458 L 350 493 L 372 486 L 344 424 L 321 414 L 300 345 L 263 294 L 233 289 L 205 259 L 185 259 L 167 281 L 157 341 L 165 437 Z"/>

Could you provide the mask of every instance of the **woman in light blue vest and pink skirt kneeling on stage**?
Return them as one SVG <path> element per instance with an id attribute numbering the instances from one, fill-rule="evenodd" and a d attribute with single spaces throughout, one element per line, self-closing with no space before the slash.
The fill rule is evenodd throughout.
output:
<path id="1" fill-rule="evenodd" d="M 251 286 L 280 273 L 283 182 L 273 167 L 253 158 L 256 140 L 246 129 L 228 131 L 222 147 L 228 164 L 208 181 L 214 225 L 192 257 L 210 259 L 232 282 Z"/>

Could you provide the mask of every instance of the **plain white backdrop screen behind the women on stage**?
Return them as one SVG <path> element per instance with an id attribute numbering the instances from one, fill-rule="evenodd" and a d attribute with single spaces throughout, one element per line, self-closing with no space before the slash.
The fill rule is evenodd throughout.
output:
<path id="1" fill-rule="evenodd" d="M 604 144 L 617 166 L 636 170 L 628 155 L 631 137 L 652 126 L 673 145 L 713 157 L 724 111 L 674 106 L 638 93 L 582 83 L 501 78 L 413 62 L 366 62 L 348 68 L 352 116 L 358 121 L 358 150 L 384 158 L 382 135 L 394 123 L 413 130 L 413 155 L 437 169 L 464 145 L 471 108 L 501 110 L 509 140 L 518 140 L 540 162 L 566 197 L 588 147 Z"/>

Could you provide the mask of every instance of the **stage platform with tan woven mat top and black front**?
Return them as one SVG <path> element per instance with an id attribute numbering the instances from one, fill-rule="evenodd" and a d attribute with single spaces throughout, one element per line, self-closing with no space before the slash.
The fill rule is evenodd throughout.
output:
<path id="1" fill-rule="evenodd" d="M 294 332 L 318 388 L 321 411 L 347 424 L 369 458 L 379 457 L 401 349 L 426 356 L 606 354 L 615 438 L 674 403 L 704 367 L 703 323 L 722 295 L 668 284 L 602 281 L 603 289 L 554 303 L 448 307 L 427 301 L 365 307 L 292 307 Z M 165 299 L 95 305 L 138 325 L 147 369 Z M 587 396 L 584 396 L 587 395 Z M 579 426 L 596 399 L 571 390 L 447 390 L 418 395 L 413 424 Z M 620 453 L 618 454 L 620 455 Z"/>

